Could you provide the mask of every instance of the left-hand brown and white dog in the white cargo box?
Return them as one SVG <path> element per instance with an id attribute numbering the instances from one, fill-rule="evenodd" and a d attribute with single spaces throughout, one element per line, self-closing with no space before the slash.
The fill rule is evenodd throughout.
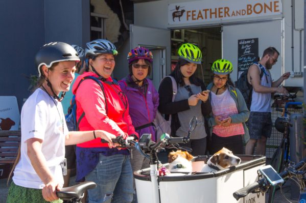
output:
<path id="1" fill-rule="evenodd" d="M 193 158 L 188 152 L 182 152 L 181 150 L 177 150 L 176 152 L 172 151 L 168 155 L 168 170 L 170 172 L 191 172 L 191 160 Z"/>

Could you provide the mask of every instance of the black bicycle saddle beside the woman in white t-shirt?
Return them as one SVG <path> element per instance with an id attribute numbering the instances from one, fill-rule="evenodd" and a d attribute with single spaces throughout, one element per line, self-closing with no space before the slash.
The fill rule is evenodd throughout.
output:
<path id="1" fill-rule="evenodd" d="M 61 191 L 57 191 L 56 194 L 62 200 L 71 200 L 73 198 L 81 198 L 86 190 L 96 187 L 97 184 L 95 182 L 86 181 L 78 185 L 63 188 Z"/>

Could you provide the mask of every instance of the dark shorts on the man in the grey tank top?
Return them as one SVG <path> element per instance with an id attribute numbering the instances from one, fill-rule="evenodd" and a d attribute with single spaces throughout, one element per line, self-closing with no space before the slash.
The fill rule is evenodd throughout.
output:
<path id="1" fill-rule="evenodd" d="M 262 136 L 271 137 L 271 112 L 251 111 L 247 126 L 251 139 L 260 139 Z"/>

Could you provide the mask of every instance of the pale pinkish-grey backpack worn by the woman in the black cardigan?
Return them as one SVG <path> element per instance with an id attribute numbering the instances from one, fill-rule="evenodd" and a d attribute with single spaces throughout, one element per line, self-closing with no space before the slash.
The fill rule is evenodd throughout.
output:
<path id="1" fill-rule="evenodd" d="M 170 77 L 172 81 L 172 90 L 173 90 L 172 102 L 174 102 L 175 95 L 177 93 L 177 84 L 176 84 L 174 77 L 170 75 L 166 77 Z M 171 134 L 171 115 L 169 117 L 169 121 L 167 121 L 166 119 L 163 118 L 162 114 L 157 110 L 156 117 L 153 121 L 153 125 L 155 126 L 155 129 L 156 129 L 156 140 L 160 139 L 160 136 L 162 133 L 168 133 L 170 135 Z"/>

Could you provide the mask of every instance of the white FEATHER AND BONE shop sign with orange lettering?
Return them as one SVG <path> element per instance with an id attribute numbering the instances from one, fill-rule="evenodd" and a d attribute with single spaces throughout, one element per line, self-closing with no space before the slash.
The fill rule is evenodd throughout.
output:
<path id="1" fill-rule="evenodd" d="M 168 23 L 197 23 L 233 20 L 282 14 L 283 5 L 280 0 L 219 0 L 195 1 L 169 4 Z"/>

